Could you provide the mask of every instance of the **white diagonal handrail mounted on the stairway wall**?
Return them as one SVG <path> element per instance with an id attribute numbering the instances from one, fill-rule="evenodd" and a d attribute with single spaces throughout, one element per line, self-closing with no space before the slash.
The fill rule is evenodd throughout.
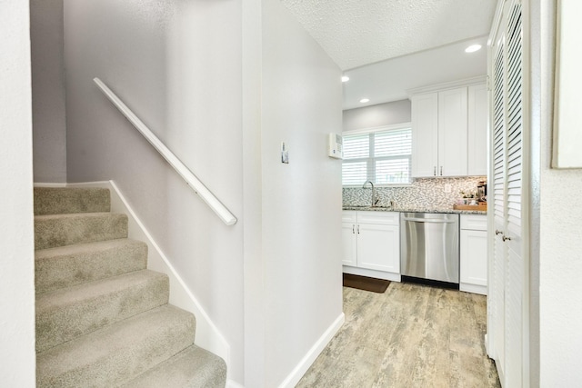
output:
<path id="1" fill-rule="evenodd" d="M 212 194 L 212 192 L 208 190 L 202 182 L 200 182 L 196 175 L 186 167 L 186 164 L 182 163 L 182 161 L 177 158 L 176 154 L 170 151 L 170 149 L 166 147 L 166 144 L 162 143 L 162 141 L 157 138 L 156 134 L 154 134 L 146 124 L 144 124 L 144 122 L 142 122 L 139 117 L 137 117 L 132 110 L 129 109 L 127 105 L 125 105 L 124 102 L 103 83 L 103 81 L 96 77 L 93 78 L 93 81 L 109 101 L 115 105 L 119 112 L 125 115 L 125 118 L 135 126 L 135 129 L 146 137 L 149 144 L 152 144 L 152 146 L 156 148 L 156 151 L 166 159 L 166 162 L 176 170 L 176 173 L 186 181 L 186 184 L 188 184 L 188 186 L 190 186 L 190 188 L 192 188 L 192 190 L 202 198 L 216 215 L 218 215 L 218 217 L 220 217 L 220 219 L 227 225 L 236 224 L 236 217 L 228 211 L 226 206 L 222 204 L 218 198 L 216 198 L 215 194 Z"/>

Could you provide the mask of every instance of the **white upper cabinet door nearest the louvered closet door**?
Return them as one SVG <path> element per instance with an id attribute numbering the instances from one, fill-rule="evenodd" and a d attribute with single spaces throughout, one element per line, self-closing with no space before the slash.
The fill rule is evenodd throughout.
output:
<path id="1" fill-rule="evenodd" d="M 487 175 L 487 85 L 468 88 L 467 174 Z"/>

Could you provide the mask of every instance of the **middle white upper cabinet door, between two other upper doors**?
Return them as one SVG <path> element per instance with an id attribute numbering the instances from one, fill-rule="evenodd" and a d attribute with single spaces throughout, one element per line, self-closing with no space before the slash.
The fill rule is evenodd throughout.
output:
<path id="1" fill-rule="evenodd" d="M 467 87 L 438 93 L 437 175 L 467 175 Z"/>

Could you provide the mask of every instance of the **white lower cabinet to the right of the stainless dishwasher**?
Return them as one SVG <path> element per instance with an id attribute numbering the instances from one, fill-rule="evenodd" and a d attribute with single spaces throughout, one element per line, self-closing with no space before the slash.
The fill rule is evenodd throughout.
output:
<path id="1" fill-rule="evenodd" d="M 487 215 L 461 214 L 460 236 L 459 289 L 487 295 Z"/>

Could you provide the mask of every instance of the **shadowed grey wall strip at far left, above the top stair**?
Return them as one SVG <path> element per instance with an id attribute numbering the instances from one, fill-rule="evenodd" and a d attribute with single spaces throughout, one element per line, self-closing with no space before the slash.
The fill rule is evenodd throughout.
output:
<path id="1" fill-rule="evenodd" d="M 63 0 L 30 1 L 35 182 L 66 182 Z"/>

